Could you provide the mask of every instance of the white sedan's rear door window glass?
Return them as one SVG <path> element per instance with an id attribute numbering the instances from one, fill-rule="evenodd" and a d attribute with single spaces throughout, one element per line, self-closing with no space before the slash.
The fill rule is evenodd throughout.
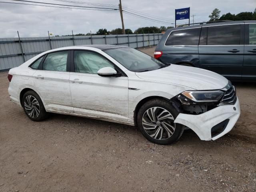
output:
<path id="1" fill-rule="evenodd" d="M 43 63 L 43 70 L 66 71 L 68 51 L 49 53 Z"/>

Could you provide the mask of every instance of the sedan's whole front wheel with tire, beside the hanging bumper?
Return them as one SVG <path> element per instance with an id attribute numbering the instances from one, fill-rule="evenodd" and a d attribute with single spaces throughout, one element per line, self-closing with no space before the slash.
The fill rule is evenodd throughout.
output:
<path id="1" fill-rule="evenodd" d="M 167 100 L 153 99 L 140 108 L 137 125 L 149 141 L 162 145 L 171 144 L 177 141 L 184 131 L 181 124 L 174 123 L 178 114 Z"/>

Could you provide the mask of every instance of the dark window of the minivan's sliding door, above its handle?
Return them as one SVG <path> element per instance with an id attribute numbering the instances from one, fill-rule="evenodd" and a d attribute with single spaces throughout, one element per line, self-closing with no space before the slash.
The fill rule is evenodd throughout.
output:
<path id="1" fill-rule="evenodd" d="M 241 25 L 208 27 L 207 45 L 240 45 Z"/>

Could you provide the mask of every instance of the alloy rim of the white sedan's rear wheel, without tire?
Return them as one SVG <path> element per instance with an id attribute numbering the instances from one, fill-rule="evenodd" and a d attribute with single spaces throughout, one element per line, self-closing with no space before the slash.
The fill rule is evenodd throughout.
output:
<path id="1" fill-rule="evenodd" d="M 24 100 L 24 108 L 27 114 L 32 118 L 37 118 L 40 114 L 40 106 L 38 100 L 32 95 L 26 96 Z"/>

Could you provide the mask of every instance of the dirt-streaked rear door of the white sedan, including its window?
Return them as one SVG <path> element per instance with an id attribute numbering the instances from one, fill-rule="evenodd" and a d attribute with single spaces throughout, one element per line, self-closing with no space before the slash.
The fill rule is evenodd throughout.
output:
<path id="1" fill-rule="evenodd" d="M 33 74 L 34 85 L 47 111 L 73 113 L 67 60 L 68 51 L 49 53 Z"/>

